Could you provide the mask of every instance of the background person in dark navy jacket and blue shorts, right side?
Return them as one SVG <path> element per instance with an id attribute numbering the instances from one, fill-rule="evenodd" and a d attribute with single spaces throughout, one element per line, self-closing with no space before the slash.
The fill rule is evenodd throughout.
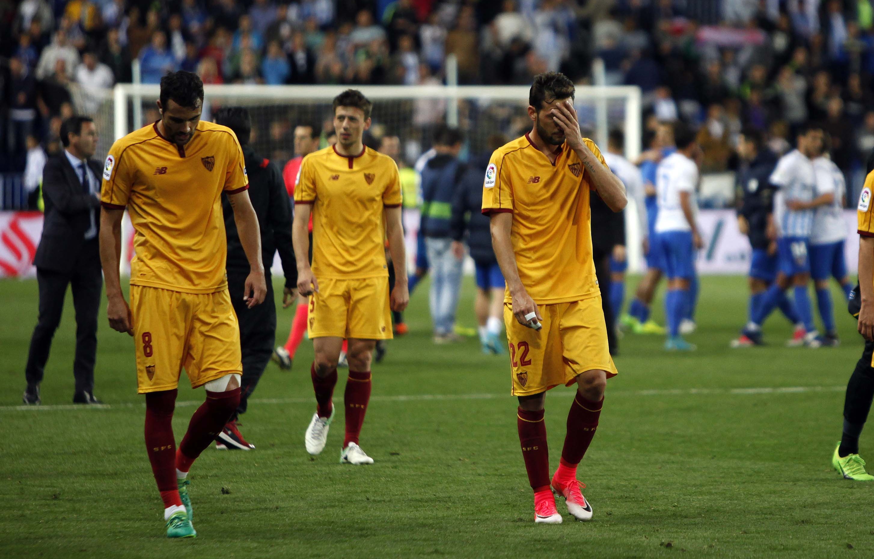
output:
<path id="1" fill-rule="evenodd" d="M 761 298 L 777 277 L 777 232 L 773 225 L 775 191 L 770 181 L 777 156 L 764 142 L 761 132 L 754 129 L 746 129 L 738 137 L 738 155 L 741 159 L 736 179 L 738 228 L 740 233 L 750 238 L 753 247 L 748 322 L 753 321 Z M 779 305 L 786 318 L 797 325 L 798 314 L 786 295 L 780 297 Z M 732 340 L 732 347 L 748 347 L 756 343 L 761 342 L 741 334 L 739 339 Z"/>

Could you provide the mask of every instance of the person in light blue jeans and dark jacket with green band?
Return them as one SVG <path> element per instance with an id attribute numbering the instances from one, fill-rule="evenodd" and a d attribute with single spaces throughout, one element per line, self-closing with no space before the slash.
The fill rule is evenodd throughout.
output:
<path id="1" fill-rule="evenodd" d="M 453 247 L 450 220 L 455 187 L 466 171 L 458 160 L 461 132 L 454 128 L 440 130 L 435 138 L 436 155 L 422 170 L 422 222 L 428 262 L 431 265 L 431 317 L 434 320 L 434 343 L 457 341 L 454 333 L 455 307 L 461 290 L 461 263 L 464 248 Z"/>

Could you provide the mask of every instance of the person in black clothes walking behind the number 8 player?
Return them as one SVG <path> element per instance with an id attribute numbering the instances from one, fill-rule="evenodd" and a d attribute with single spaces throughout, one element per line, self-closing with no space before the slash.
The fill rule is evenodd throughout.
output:
<path id="1" fill-rule="evenodd" d="M 220 108 L 214 116 L 217 124 L 227 126 L 237 135 L 243 148 L 243 158 L 246 161 L 246 174 L 249 178 L 249 199 L 255 213 L 258 214 L 258 224 L 261 234 L 261 259 L 264 262 L 264 272 L 267 279 L 267 297 L 264 304 L 248 308 L 242 297 L 232 298 L 234 311 L 239 320 L 239 342 L 243 357 L 243 377 L 240 381 L 239 408 L 225 425 L 225 429 L 216 437 L 218 449 L 249 451 L 254 444 L 246 442 L 239 432 L 237 418 L 246 412 L 248 397 L 252 395 L 255 386 L 264 374 L 264 368 L 274 349 L 276 335 L 276 305 L 274 304 L 273 282 L 270 276 L 270 265 L 274 261 L 274 253 L 278 250 L 282 261 L 282 271 L 285 275 L 285 289 L 282 295 L 283 308 L 295 302 L 295 286 L 297 285 L 297 266 L 295 252 L 291 244 L 292 209 L 288 201 L 288 192 L 279 166 L 269 159 L 260 157 L 249 146 L 249 135 L 252 131 L 252 120 L 249 111 L 242 107 Z M 222 208 L 225 213 L 225 230 L 227 233 L 227 284 L 231 293 L 241 293 L 246 276 L 249 273 L 249 261 L 246 252 L 239 242 L 237 225 L 233 220 L 231 203 L 226 196 L 222 197 Z"/>

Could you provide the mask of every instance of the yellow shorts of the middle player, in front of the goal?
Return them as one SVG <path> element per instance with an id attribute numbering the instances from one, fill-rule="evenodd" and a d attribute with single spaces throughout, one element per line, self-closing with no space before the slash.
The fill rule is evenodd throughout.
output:
<path id="1" fill-rule="evenodd" d="M 309 296 L 309 338 L 392 339 L 388 277 L 319 279 Z"/>

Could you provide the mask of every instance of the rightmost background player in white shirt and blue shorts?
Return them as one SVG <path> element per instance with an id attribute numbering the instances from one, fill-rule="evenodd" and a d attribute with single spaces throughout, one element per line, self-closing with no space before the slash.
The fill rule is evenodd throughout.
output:
<path id="1" fill-rule="evenodd" d="M 814 279 L 816 303 L 822 318 L 822 327 L 825 329 L 823 343 L 826 346 L 837 346 L 835 311 L 831 302 L 829 280 L 834 277 L 841 284 L 844 297 L 848 299 L 853 290 L 843 254 L 844 240 L 847 238 L 847 223 L 843 220 L 847 185 L 843 172 L 829 158 L 828 150 L 816 157 L 813 163 L 816 198 L 811 202 L 815 213 L 810 234 L 810 276 Z"/>

